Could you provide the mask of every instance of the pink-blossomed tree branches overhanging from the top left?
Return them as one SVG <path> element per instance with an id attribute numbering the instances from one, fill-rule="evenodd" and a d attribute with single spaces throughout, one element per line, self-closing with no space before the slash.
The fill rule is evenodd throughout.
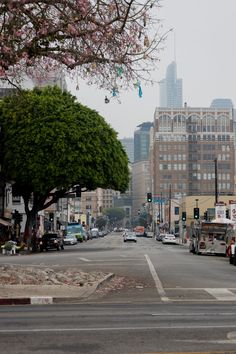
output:
<path id="1" fill-rule="evenodd" d="M 150 80 L 167 33 L 160 0 L 1 0 L 0 77 L 66 68 L 103 88 Z"/>

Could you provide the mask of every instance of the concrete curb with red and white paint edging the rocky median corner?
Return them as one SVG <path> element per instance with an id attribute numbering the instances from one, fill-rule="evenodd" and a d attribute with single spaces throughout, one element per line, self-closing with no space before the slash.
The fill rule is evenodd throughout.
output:
<path id="1" fill-rule="evenodd" d="M 91 296 L 105 282 L 115 276 L 114 273 L 107 274 L 103 279 L 95 282 L 92 286 L 82 288 L 81 293 L 77 297 L 71 296 L 22 296 L 22 297 L 2 297 L 0 298 L 1 305 L 52 305 L 60 303 L 77 303 Z"/>

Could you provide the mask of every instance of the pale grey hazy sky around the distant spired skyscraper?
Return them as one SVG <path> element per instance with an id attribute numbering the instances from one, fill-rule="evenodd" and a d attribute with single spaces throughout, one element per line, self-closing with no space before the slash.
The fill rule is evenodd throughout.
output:
<path id="1" fill-rule="evenodd" d="M 161 62 L 153 74 L 155 81 L 165 77 L 174 59 L 176 43 L 177 76 L 183 79 L 183 101 L 191 107 L 209 107 L 214 98 L 231 98 L 236 105 L 236 0 L 162 0 L 159 18 L 169 34 Z M 121 103 L 104 103 L 109 93 L 80 82 L 72 93 L 78 100 L 96 109 L 119 133 L 119 138 L 133 137 L 137 125 L 153 121 L 159 105 L 158 84 L 142 85 L 122 92 Z"/>

